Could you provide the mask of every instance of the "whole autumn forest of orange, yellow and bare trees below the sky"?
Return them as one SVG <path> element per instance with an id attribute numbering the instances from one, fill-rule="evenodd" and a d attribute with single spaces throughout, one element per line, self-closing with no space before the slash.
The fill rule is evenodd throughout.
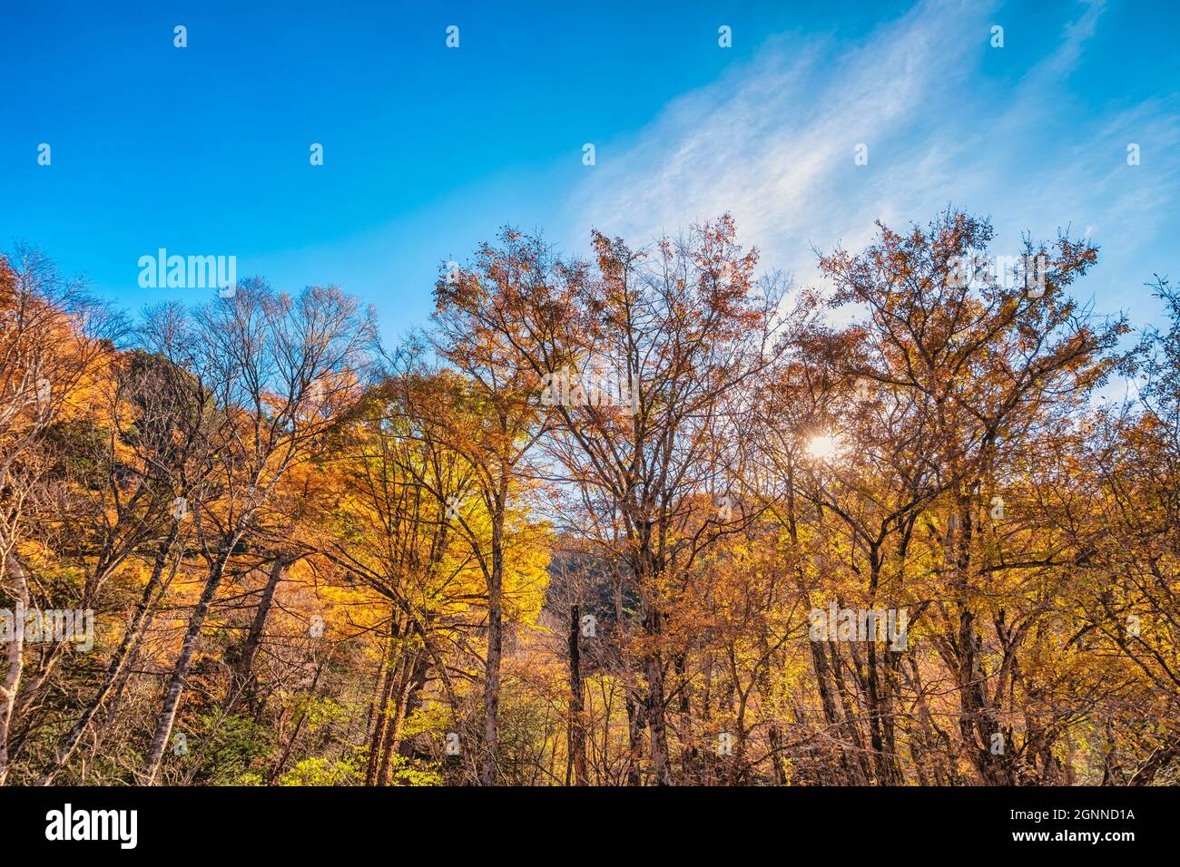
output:
<path id="1" fill-rule="evenodd" d="M 18 245 L 0 783 L 1180 782 L 1180 290 L 1004 241 L 506 228 L 392 342 Z"/>

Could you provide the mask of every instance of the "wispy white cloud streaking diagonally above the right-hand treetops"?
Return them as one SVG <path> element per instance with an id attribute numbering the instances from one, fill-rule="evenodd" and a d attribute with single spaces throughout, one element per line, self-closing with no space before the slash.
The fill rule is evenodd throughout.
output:
<path id="1" fill-rule="evenodd" d="M 1008 51 L 989 47 L 991 25 L 1015 17 L 983 4 L 926 2 L 854 45 L 775 38 L 599 149 L 571 214 L 649 238 L 728 210 L 763 264 L 800 282 L 817 278 L 813 245 L 856 249 L 874 219 L 925 222 L 950 203 L 994 216 L 1014 252 L 1021 230 L 1051 237 L 1073 221 L 1129 265 L 1175 223 L 1180 183 L 1135 175 L 1126 145 L 1175 145 L 1180 125 L 1162 104 L 1079 119 L 1068 80 L 1102 14 L 1100 0 L 1079 5 L 1015 85 L 984 74 L 989 51 Z"/>

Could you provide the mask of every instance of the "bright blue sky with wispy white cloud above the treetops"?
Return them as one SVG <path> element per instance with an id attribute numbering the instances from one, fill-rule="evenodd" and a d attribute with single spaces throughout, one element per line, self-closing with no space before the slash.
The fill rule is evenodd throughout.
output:
<path id="1" fill-rule="evenodd" d="M 505 223 L 584 252 L 591 225 L 638 245 L 729 210 L 811 283 L 813 247 L 953 203 L 1002 255 L 1023 230 L 1089 234 L 1100 311 L 1150 321 L 1142 284 L 1180 277 L 1175 2 L 247 6 L 6 9 L 0 242 L 129 309 L 170 297 L 138 285 L 140 256 L 235 255 L 361 295 L 389 335 Z"/>

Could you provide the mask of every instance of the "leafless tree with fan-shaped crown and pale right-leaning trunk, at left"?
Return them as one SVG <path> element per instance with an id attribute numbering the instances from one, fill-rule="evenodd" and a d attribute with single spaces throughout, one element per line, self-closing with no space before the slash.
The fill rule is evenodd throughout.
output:
<path id="1" fill-rule="evenodd" d="M 276 485 L 360 393 L 374 339 L 371 313 L 335 288 L 297 297 L 262 281 L 199 308 L 191 341 L 171 361 L 211 394 L 216 464 L 191 504 L 195 544 L 208 577 L 172 668 L 143 781 L 155 783 L 210 605 L 238 544 Z M 178 347 L 181 348 L 181 347 Z"/>

